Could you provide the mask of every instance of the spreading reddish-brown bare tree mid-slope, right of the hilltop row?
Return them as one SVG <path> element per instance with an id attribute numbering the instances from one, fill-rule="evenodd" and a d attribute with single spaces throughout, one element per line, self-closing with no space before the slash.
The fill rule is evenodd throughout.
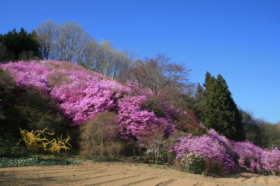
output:
<path id="1" fill-rule="evenodd" d="M 165 103 L 176 105 L 178 95 L 192 91 L 194 83 L 189 81 L 190 69 L 183 64 L 170 62 L 170 57 L 157 54 L 154 58 L 137 60 L 132 68 L 124 71 L 124 79 L 137 94 L 141 94 L 140 88 L 145 86 L 154 95 L 150 103 L 150 110 L 157 112 Z"/>

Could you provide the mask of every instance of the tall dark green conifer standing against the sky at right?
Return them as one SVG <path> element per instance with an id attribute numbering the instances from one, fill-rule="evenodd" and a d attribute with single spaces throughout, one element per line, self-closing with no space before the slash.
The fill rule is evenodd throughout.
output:
<path id="1" fill-rule="evenodd" d="M 244 140 L 242 117 L 222 75 L 217 79 L 207 71 L 205 75 L 203 124 L 224 134 L 231 140 Z"/>

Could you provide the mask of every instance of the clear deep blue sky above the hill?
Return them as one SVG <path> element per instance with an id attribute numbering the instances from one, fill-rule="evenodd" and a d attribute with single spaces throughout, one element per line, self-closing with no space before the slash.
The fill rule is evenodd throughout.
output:
<path id="1" fill-rule="evenodd" d="M 235 103 L 256 117 L 280 120 L 280 1 L 8 1 L 0 33 L 32 31 L 41 21 L 77 21 L 98 41 L 139 57 L 167 52 L 193 71 L 220 73 Z"/>

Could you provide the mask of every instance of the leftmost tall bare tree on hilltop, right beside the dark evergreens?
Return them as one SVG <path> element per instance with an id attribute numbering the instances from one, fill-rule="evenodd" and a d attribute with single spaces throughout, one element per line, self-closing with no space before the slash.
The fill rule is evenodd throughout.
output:
<path id="1" fill-rule="evenodd" d="M 57 25 L 52 20 L 42 21 L 36 29 L 43 59 L 49 59 L 54 51 L 55 32 Z"/>

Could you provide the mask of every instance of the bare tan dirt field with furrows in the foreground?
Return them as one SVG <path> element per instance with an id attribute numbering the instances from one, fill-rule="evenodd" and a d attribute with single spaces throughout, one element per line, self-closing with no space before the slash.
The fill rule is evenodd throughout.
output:
<path id="1" fill-rule="evenodd" d="M 168 169 L 168 168 L 167 168 Z M 0 185 L 272 185 L 280 178 L 241 173 L 205 177 L 143 163 L 92 163 L 82 165 L 0 168 Z"/>

